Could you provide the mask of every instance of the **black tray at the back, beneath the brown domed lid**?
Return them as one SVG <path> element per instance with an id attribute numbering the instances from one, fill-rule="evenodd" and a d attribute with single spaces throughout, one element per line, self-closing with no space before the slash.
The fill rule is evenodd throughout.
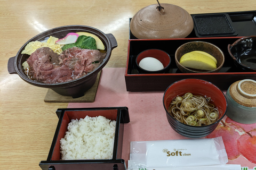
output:
<path id="1" fill-rule="evenodd" d="M 226 37 L 226 36 L 254 36 L 256 35 L 256 11 L 242 11 L 242 12 L 225 12 L 225 13 L 205 13 L 205 14 L 191 14 L 194 20 L 194 29 L 186 38 L 201 38 L 201 37 Z M 220 32 L 216 32 L 215 34 L 206 35 L 198 35 L 196 31 L 195 22 L 196 18 L 202 18 L 203 16 L 221 16 L 226 27 L 230 27 L 230 30 L 219 30 Z M 131 20 L 131 19 L 130 19 Z M 207 21 L 207 20 L 206 20 Z M 209 23 L 209 22 L 207 22 Z M 212 24 L 212 23 L 211 23 Z M 220 24 L 220 23 L 219 23 Z M 222 25 L 223 26 L 223 25 Z M 204 25 L 207 28 L 207 25 Z M 225 28 L 226 28 L 225 27 Z M 233 30 L 232 30 L 233 29 Z M 134 37 L 130 31 L 129 39 L 137 39 Z"/>

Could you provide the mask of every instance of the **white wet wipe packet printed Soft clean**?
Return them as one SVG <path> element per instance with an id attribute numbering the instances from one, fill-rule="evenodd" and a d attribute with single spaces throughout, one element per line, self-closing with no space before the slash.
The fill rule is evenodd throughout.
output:
<path id="1" fill-rule="evenodd" d="M 228 162 L 222 137 L 133 141 L 129 169 L 221 165 Z"/>

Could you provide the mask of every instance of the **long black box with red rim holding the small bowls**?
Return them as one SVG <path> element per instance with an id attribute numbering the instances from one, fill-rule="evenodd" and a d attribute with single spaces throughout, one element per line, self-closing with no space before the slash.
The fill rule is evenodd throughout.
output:
<path id="1" fill-rule="evenodd" d="M 182 39 L 134 39 L 129 40 L 125 83 L 127 91 L 165 91 L 171 83 L 187 78 L 209 81 L 221 90 L 227 90 L 235 81 L 242 79 L 256 80 L 256 72 L 244 72 L 235 67 L 228 53 L 228 44 L 233 44 L 240 37 L 182 38 Z M 225 63 L 218 73 L 182 73 L 178 69 L 174 55 L 182 44 L 190 41 L 206 41 L 219 47 L 225 55 Z M 171 56 L 171 68 L 168 73 L 139 74 L 135 64 L 136 56 L 143 50 L 162 49 Z"/>

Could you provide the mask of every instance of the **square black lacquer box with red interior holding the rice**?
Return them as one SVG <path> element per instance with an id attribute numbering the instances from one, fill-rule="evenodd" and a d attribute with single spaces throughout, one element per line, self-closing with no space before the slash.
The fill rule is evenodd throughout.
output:
<path id="1" fill-rule="evenodd" d="M 125 160 L 122 159 L 124 123 L 130 122 L 127 107 L 102 107 L 102 108 L 63 108 L 56 111 L 59 122 L 54 134 L 52 145 L 47 160 L 41 161 L 39 166 L 43 170 L 57 169 L 111 169 L 126 170 Z M 60 139 L 66 134 L 71 120 L 79 120 L 85 116 L 104 116 L 116 121 L 114 148 L 112 159 L 91 160 L 61 160 Z"/>

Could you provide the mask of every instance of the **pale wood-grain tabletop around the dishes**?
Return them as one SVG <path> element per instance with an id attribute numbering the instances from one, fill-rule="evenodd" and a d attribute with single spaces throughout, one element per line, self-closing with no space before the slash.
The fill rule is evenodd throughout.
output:
<path id="1" fill-rule="evenodd" d="M 178 5 L 190 14 L 256 10 L 256 1 L 160 0 Z M 41 169 L 52 143 L 57 108 L 67 103 L 45 103 L 47 89 L 32 86 L 9 74 L 7 61 L 30 38 L 62 25 L 89 25 L 117 39 L 106 67 L 125 67 L 129 18 L 146 0 L 37 1 L 0 0 L 0 169 Z M 99 106 L 100 107 L 100 106 Z"/>

